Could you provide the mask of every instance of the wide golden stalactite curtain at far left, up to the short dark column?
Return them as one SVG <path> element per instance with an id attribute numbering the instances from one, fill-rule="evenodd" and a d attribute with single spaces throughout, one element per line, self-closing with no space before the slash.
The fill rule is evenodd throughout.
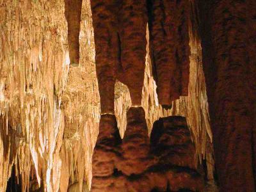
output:
<path id="1" fill-rule="evenodd" d="M 58 7 L 47 1 L 1 4 L 1 113 L 8 120 L 6 136 L 21 144 L 15 170 L 22 191 L 29 188 L 34 169 L 45 190 L 58 190 L 58 138 L 64 128 L 60 100 L 68 74 L 65 19 Z M 8 177 L 1 179 L 3 191 Z"/>

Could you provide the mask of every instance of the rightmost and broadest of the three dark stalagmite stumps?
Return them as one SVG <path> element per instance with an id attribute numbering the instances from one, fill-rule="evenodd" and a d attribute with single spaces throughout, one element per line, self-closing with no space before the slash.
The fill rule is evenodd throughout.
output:
<path id="1" fill-rule="evenodd" d="M 195 147 L 186 118 L 169 116 L 157 120 L 150 135 L 150 145 L 150 151 L 157 159 L 152 168 L 164 173 L 167 189 L 203 191 L 204 181 L 196 171 Z M 156 189 L 163 191 L 157 184 Z"/>

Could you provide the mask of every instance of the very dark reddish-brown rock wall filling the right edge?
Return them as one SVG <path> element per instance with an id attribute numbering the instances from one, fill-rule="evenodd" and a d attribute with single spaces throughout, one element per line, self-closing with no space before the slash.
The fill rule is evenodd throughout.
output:
<path id="1" fill-rule="evenodd" d="M 198 3 L 220 191 L 255 191 L 256 2 Z"/>

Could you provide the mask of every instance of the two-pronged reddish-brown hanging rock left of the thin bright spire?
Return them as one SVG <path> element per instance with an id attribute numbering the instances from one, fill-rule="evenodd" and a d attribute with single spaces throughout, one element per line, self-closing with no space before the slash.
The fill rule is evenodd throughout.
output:
<path id="1" fill-rule="evenodd" d="M 102 113 L 114 113 L 114 88 L 126 84 L 141 104 L 146 56 L 146 1 L 91 1 Z"/>

